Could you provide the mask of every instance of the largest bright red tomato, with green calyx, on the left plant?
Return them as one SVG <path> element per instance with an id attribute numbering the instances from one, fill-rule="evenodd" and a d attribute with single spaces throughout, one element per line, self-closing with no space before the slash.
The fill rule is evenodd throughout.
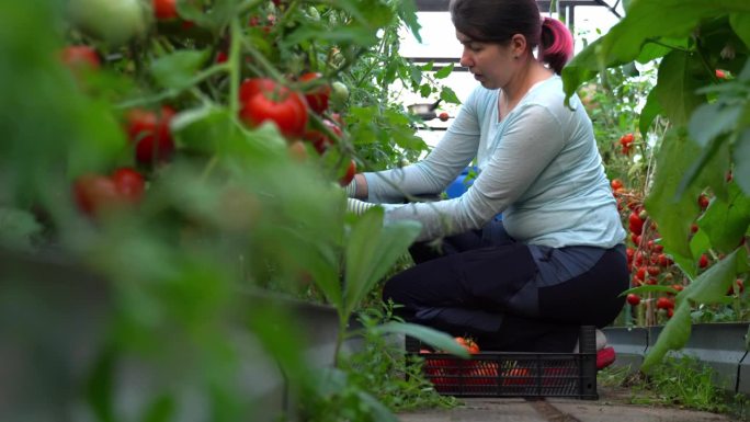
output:
<path id="1" fill-rule="evenodd" d="M 245 102 L 240 118 L 251 127 L 273 122 L 282 135 L 297 138 L 305 135 L 307 105 L 299 93 L 280 88 L 276 92 L 252 95 Z"/>

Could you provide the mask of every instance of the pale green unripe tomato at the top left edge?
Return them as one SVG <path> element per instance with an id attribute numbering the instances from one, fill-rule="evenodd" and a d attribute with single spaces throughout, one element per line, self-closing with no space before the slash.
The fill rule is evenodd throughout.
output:
<path id="1" fill-rule="evenodd" d="M 141 0 L 70 0 L 68 8 L 79 30 L 112 46 L 143 36 L 149 24 Z"/>

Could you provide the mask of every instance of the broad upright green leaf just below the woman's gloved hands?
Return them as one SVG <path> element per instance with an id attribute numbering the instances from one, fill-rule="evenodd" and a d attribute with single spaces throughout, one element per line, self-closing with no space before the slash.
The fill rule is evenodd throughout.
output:
<path id="1" fill-rule="evenodd" d="M 409 220 L 384 226 L 383 213 L 373 207 L 352 227 L 345 254 L 344 316 L 390 271 L 421 230 L 421 225 Z"/>

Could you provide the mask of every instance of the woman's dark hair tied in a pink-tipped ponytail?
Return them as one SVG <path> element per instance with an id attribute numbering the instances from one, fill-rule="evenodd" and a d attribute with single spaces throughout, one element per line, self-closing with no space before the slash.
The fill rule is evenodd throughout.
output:
<path id="1" fill-rule="evenodd" d="M 558 20 L 542 20 L 535 0 L 451 0 L 450 10 L 456 31 L 478 42 L 502 44 L 523 35 L 556 73 L 572 56 L 570 31 Z"/>

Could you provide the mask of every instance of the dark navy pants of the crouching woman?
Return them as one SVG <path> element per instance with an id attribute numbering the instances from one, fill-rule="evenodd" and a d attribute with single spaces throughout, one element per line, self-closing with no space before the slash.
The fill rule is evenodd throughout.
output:
<path id="1" fill-rule="evenodd" d="M 620 313 L 628 288 L 624 248 L 604 251 L 589 271 L 564 283 L 527 286 L 537 265 L 529 247 L 487 229 L 446 238 L 442 249 L 417 243 L 416 265 L 385 285 L 383 298 L 402 305 L 409 322 L 470 335 L 482 350 L 572 351 L 580 326 L 604 327 Z M 538 315 L 510 311 L 522 288 L 536 288 Z"/>

